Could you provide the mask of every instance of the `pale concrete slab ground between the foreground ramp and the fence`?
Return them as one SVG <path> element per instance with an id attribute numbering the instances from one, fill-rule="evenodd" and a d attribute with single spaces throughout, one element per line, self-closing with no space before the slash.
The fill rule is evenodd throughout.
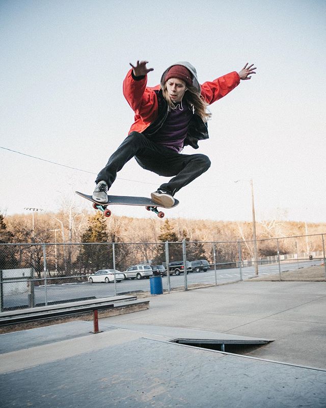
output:
<path id="1" fill-rule="evenodd" d="M 273 339 L 247 355 L 326 369 L 326 283 L 239 282 L 152 296 L 150 309 L 105 322 Z"/>

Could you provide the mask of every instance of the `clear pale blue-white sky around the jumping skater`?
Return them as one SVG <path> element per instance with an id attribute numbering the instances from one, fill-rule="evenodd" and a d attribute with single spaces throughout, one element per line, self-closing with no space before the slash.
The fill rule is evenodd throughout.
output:
<path id="1" fill-rule="evenodd" d="M 166 215 L 251 220 L 253 179 L 258 219 L 326 222 L 325 51 L 324 1 L 0 0 L 0 211 L 56 211 L 63 198 L 90 208 L 73 192 L 93 192 L 128 133 L 129 62 L 149 61 L 149 86 L 177 61 L 201 83 L 250 62 L 252 80 L 211 105 L 210 139 L 184 149 L 211 168 Z M 132 159 L 110 191 L 149 196 L 166 180 Z"/>

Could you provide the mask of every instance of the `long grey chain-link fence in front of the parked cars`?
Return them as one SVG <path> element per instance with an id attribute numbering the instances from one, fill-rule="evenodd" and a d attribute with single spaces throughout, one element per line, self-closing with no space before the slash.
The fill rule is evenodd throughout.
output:
<path id="1" fill-rule="evenodd" d="M 0 244 L 0 312 L 150 291 L 191 289 L 320 266 L 325 236 L 254 241 Z M 184 273 L 186 270 L 186 273 Z"/>

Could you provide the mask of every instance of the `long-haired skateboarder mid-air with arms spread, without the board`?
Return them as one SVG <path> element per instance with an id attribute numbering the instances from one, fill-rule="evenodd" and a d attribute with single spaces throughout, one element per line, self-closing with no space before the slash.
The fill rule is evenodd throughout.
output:
<path id="1" fill-rule="evenodd" d="M 196 69 L 188 62 L 171 65 L 160 85 L 147 87 L 148 61 L 137 61 L 123 82 L 123 94 L 134 111 L 129 135 L 98 173 L 93 199 L 107 201 L 107 191 L 117 172 L 131 158 L 146 170 L 172 177 L 161 184 L 151 197 L 158 205 L 172 207 L 173 196 L 210 167 L 201 154 L 181 154 L 183 146 L 198 148 L 198 141 L 208 138 L 206 107 L 232 91 L 240 80 L 250 80 L 256 73 L 248 63 L 239 72 L 200 85 Z"/>

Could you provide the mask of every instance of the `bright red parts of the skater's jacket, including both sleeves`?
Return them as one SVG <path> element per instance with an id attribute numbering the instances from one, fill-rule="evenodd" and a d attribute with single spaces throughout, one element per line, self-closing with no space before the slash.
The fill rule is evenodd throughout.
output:
<path id="1" fill-rule="evenodd" d="M 201 85 L 201 94 L 208 105 L 228 94 L 239 85 L 240 77 L 237 72 L 230 72 L 212 82 Z M 141 80 L 134 80 L 130 69 L 123 81 L 123 95 L 131 109 L 134 111 L 134 123 L 129 134 L 133 131 L 142 133 L 156 118 L 158 101 L 155 90 L 160 85 L 147 87 L 147 75 Z"/>

